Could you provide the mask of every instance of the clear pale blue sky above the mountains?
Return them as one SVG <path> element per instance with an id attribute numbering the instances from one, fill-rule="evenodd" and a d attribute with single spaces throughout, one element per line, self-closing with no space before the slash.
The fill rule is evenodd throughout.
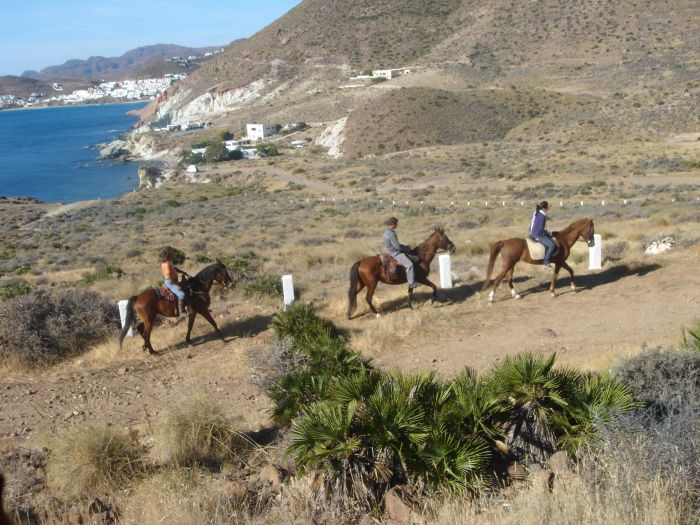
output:
<path id="1" fill-rule="evenodd" d="M 0 75 L 141 46 L 223 46 L 301 0 L 0 0 Z"/>

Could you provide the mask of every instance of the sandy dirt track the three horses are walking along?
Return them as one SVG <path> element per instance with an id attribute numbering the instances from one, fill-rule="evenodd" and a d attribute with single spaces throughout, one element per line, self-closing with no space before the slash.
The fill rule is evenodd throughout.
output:
<path id="1" fill-rule="evenodd" d="M 516 269 L 516 287 L 522 299 L 512 299 L 506 286 L 499 288 L 493 304 L 486 294 L 477 293 L 482 280 L 441 291 L 435 305 L 419 289 L 414 310 L 405 307 L 403 287 L 385 286 L 375 296 L 383 312 L 380 319 L 366 315 L 363 297 L 358 317 L 344 319 L 343 284 L 335 290 L 335 315 L 332 307 L 321 314 L 334 317 L 382 368 L 435 369 L 450 377 L 464 366 L 483 371 L 505 355 L 527 350 L 556 351 L 560 364 L 601 370 L 644 344 L 679 341 L 682 327 L 697 320 L 700 275 L 688 271 L 696 267 L 695 259 L 695 252 L 687 250 L 595 272 L 578 269 L 578 291 L 571 291 L 567 277 L 560 280 L 554 298 L 546 290 L 548 274 L 521 267 Z M 163 350 L 159 357 L 142 353 L 140 341 L 127 340 L 121 352 L 112 341 L 42 373 L 5 371 L 0 379 L 0 444 L 40 443 L 47 432 L 79 421 L 149 433 L 164 411 L 198 392 L 221 402 L 251 430 L 265 427 L 269 402 L 249 355 L 266 344 L 276 307 L 213 308 L 226 343 L 198 320 L 195 345 L 186 347 L 181 343 L 185 323 L 164 324 L 154 332 L 154 345 Z M 413 326 L 410 333 L 394 336 L 404 325 Z M 369 342 L 362 343 L 363 338 Z M 375 344 L 379 340 L 383 343 Z"/>

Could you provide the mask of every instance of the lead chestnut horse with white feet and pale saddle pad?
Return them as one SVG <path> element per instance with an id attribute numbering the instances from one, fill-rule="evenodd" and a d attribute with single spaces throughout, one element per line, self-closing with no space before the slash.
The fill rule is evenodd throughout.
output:
<path id="1" fill-rule="evenodd" d="M 552 284 L 549 286 L 549 291 L 552 295 L 554 295 L 557 275 L 559 275 L 559 270 L 561 268 L 565 268 L 569 272 L 571 275 L 571 288 L 573 290 L 576 289 L 574 271 L 571 269 L 571 266 L 566 264 L 566 259 L 571 253 L 571 247 L 579 238 L 586 241 L 588 246 L 593 246 L 594 233 L 593 221 L 591 219 L 579 219 L 564 228 L 562 231 L 553 233 L 553 236 L 559 245 L 559 250 L 552 256 L 554 272 L 552 274 Z M 493 265 L 499 253 L 503 264 L 501 266 L 501 272 L 493 280 L 493 289 L 489 292 L 489 302 L 493 302 L 493 296 L 496 293 L 498 283 L 500 283 L 506 276 L 508 276 L 510 294 L 514 298 L 520 299 L 520 295 L 515 291 L 515 287 L 513 286 L 513 270 L 515 269 L 515 265 L 519 261 L 524 261 L 530 264 L 542 264 L 542 260 L 533 260 L 530 257 L 530 250 L 527 248 L 527 242 L 525 239 L 507 239 L 505 241 L 498 241 L 492 244 L 491 257 L 489 257 L 489 266 L 486 272 L 486 282 L 484 282 L 484 287 L 481 289 L 482 292 L 489 287 L 489 283 L 491 282 L 491 273 L 493 272 Z"/>

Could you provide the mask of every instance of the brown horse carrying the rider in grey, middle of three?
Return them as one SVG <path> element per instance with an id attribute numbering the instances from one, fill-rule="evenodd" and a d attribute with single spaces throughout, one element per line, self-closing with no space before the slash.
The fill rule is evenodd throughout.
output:
<path id="1" fill-rule="evenodd" d="M 448 250 L 450 253 L 455 252 L 455 245 L 445 235 L 445 230 L 439 226 L 435 227 L 435 231 L 423 241 L 420 245 L 410 251 L 411 255 L 418 257 L 416 263 L 416 282 L 430 286 L 433 289 L 433 297 L 431 301 L 437 298 L 437 286 L 428 280 L 430 273 L 430 263 L 433 261 L 438 250 Z M 382 265 L 382 260 L 379 255 L 365 257 L 360 259 L 350 268 L 350 290 L 348 290 L 348 319 L 352 318 L 352 314 L 357 308 L 357 294 L 362 289 L 367 287 L 366 300 L 372 313 L 379 316 L 377 310 L 372 304 L 372 296 L 377 287 L 377 283 L 381 281 L 386 284 L 403 284 L 406 281 L 406 270 L 403 266 L 397 268 L 396 279 L 390 280 Z M 413 289 L 408 289 L 408 307 L 411 308 L 411 297 Z"/>

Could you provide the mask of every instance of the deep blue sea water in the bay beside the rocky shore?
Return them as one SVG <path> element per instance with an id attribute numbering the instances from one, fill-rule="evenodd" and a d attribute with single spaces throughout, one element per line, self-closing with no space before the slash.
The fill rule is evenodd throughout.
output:
<path id="1" fill-rule="evenodd" d="M 138 186 L 138 164 L 99 159 L 143 102 L 0 111 L 0 195 L 49 202 L 110 198 Z"/>

